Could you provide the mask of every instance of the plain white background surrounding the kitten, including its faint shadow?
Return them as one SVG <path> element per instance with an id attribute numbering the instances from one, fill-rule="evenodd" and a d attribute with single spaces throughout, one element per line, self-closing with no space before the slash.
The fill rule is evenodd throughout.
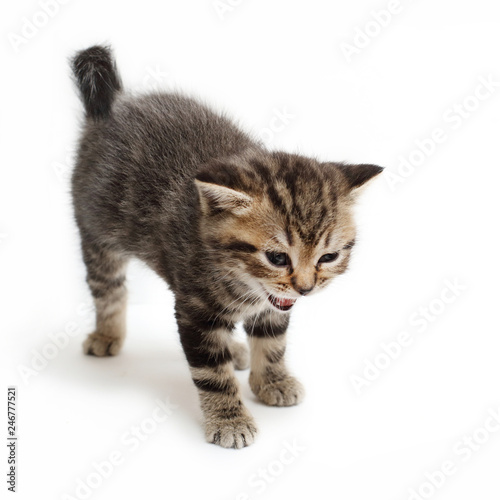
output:
<path id="1" fill-rule="evenodd" d="M 18 387 L 17 498 L 498 499 L 500 87 L 473 97 L 481 78 L 500 82 L 498 2 L 401 0 L 384 27 L 372 14 L 384 0 L 231 2 L 70 0 L 45 19 L 38 1 L 3 2 L 0 352 L 2 391 Z M 362 43 L 367 23 L 348 60 L 342 44 Z M 82 107 L 67 58 L 101 42 L 127 88 L 185 89 L 273 147 L 387 167 L 359 205 L 351 270 L 293 312 L 304 403 L 266 407 L 238 374 L 260 427 L 244 450 L 204 442 L 172 296 L 140 264 L 122 353 L 82 354 L 93 317 L 68 191 Z M 293 118 L 263 132 L 276 110 Z M 422 159 L 415 141 L 436 128 Z M 412 154 L 419 165 L 391 185 Z M 461 287 L 449 303 L 446 280 Z M 364 373 L 375 361 L 385 368 Z M 156 424 L 167 398 L 177 407 Z M 148 432 L 136 449 L 122 440 L 134 426 Z M 116 452 L 98 476 L 92 464 Z M 453 473 L 426 485 L 446 461 Z"/>

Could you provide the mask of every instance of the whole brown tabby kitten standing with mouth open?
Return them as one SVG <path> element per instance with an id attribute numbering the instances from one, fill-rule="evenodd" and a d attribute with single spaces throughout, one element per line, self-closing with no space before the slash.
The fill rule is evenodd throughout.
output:
<path id="1" fill-rule="evenodd" d="M 353 203 L 382 168 L 271 152 L 196 100 L 126 94 L 107 47 L 72 68 L 86 111 L 73 204 L 97 316 L 84 351 L 118 354 L 125 270 L 141 259 L 175 294 L 207 440 L 247 446 L 257 427 L 233 370 L 250 365 L 265 404 L 302 400 L 284 359 L 290 311 L 346 270 Z M 251 356 L 232 337 L 238 321 Z"/>

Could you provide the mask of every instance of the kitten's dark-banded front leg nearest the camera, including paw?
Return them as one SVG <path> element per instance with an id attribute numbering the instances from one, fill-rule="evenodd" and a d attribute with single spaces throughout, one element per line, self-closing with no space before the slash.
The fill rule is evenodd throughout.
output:
<path id="1" fill-rule="evenodd" d="M 243 405 L 234 376 L 231 335 L 234 325 L 177 306 L 181 343 L 198 388 L 208 442 L 224 448 L 253 443 L 257 427 Z"/>

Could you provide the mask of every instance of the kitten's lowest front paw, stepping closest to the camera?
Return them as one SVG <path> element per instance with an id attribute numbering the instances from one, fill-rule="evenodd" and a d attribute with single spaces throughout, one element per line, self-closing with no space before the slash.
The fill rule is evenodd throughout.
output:
<path id="1" fill-rule="evenodd" d="M 254 442 L 257 426 L 250 415 L 231 419 L 215 417 L 206 423 L 205 435 L 209 443 L 240 449 Z"/>

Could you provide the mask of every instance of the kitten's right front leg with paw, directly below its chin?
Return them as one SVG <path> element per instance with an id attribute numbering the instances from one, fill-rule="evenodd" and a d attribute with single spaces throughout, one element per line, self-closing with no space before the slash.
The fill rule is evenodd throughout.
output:
<path id="1" fill-rule="evenodd" d="M 289 319 L 288 314 L 266 311 L 244 325 L 250 342 L 250 387 L 271 406 L 291 406 L 304 398 L 304 387 L 285 365 Z"/>

